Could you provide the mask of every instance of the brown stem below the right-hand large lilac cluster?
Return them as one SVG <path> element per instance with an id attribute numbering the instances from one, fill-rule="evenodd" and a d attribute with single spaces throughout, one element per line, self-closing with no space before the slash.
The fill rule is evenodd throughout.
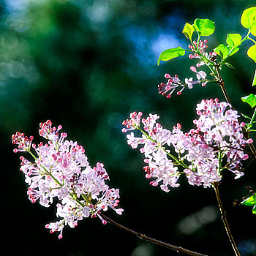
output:
<path id="1" fill-rule="evenodd" d="M 231 234 L 230 227 L 227 224 L 226 213 L 225 213 L 224 208 L 222 206 L 222 200 L 220 199 L 220 195 L 219 195 L 219 182 L 215 181 L 214 184 L 213 184 L 213 187 L 214 187 L 214 191 L 215 191 L 215 194 L 216 194 L 216 197 L 217 197 L 217 201 L 218 201 L 218 205 L 219 205 L 219 211 L 220 211 L 220 214 L 221 214 L 221 217 L 222 217 L 222 222 L 225 226 L 225 230 L 226 230 L 227 236 L 230 240 L 230 244 L 232 245 L 233 251 L 235 252 L 236 256 L 241 256 L 237 247 L 236 247 L 236 243 L 234 241 L 234 238 Z"/>

